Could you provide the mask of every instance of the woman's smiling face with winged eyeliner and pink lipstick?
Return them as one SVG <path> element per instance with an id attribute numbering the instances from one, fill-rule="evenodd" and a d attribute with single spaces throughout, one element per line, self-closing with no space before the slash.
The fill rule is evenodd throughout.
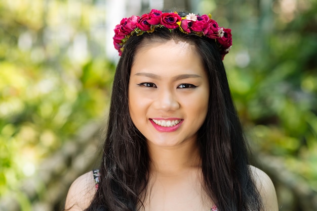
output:
<path id="1" fill-rule="evenodd" d="M 129 112 L 149 145 L 173 147 L 196 141 L 209 99 L 201 58 L 186 42 L 153 42 L 135 55 Z"/>

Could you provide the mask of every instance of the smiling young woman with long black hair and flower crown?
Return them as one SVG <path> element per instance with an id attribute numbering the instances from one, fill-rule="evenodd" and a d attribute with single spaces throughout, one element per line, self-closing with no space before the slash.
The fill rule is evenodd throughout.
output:
<path id="1" fill-rule="evenodd" d="M 231 99 L 230 29 L 152 10 L 114 31 L 121 59 L 102 163 L 73 182 L 65 209 L 278 210 Z"/>

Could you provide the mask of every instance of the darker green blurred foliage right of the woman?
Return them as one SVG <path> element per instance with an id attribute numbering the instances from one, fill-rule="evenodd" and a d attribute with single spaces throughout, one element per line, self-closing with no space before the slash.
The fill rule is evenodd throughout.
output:
<path id="1" fill-rule="evenodd" d="M 317 191 L 317 2 L 265 7 L 252 20 L 228 21 L 240 33 L 224 61 L 231 91 L 258 150 L 283 157 Z"/>

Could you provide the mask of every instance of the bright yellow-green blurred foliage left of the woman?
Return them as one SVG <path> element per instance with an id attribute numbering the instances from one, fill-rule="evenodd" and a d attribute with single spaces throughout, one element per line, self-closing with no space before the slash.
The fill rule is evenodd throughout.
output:
<path id="1" fill-rule="evenodd" d="M 108 107 L 114 65 L 92 34 L 91 3 L 0 2 L 0 196 L 14 192 L 24 208 L 21 181 Z"/>

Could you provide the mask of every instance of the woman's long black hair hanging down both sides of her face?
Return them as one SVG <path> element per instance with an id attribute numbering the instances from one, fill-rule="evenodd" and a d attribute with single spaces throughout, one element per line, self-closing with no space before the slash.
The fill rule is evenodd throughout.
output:
<path id="1" fill-rule="evenodd" d="M 181 40 L 194 45 L 209 79 L 208 113 L 197 136 L 206 192 L 219 210 L 260 210 L 261 197 L 251 176 L 247 143 L 215 41 L 166 28 L 131 36 L 125 44 L 114 76 L 100 167 L 101 180 L 86 210 L 143 208 L 150 157 L 146 140 L 129 114 L 130 71 L 138 49 L 151 42 L 168 40 Z"/>

